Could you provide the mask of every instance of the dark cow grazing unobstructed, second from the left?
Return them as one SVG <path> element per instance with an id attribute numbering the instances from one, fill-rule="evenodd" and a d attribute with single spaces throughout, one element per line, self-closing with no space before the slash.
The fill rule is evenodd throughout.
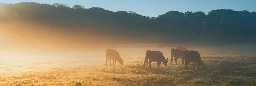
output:
<path id="1" fill-rule="evenodd" d="M 148 62 L 149 59 L 149 62 Z M 165 66 L 167 66 L 167 59 L 165 59 L 164 55 L 162 52 L 160 51 L 150 51 L 148 50 L 146 52 L 146 57 L 145 57 L 145 61 L 144 61 L 144 65 L 143 65 L 143 69 L 145 68 L 145 65 L 149 63 L 149 69 L 151 70 L 151 62 L 152 61 L 156 61 L 157 63 L 157 68 L 159 68 L 161 62 L 164 63 Z"/>

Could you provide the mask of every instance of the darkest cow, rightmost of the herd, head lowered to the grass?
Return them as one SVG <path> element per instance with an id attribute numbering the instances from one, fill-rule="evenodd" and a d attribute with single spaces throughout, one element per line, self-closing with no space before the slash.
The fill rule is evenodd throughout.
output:
<path id="1" fill-rule="evenodd" d="M 201 65 L 203 65 L 203 61 L 201 61 L 200 54 L 197 51 L 193 51 L 193 50 L 184 51 L 184 60 L 185 60 L 186 69 L 189 61 L 194 63 L 193 68 L 195 68 L 196 65 L 197 65 L 197 68 L 198 66 L 200 67 Z"/>

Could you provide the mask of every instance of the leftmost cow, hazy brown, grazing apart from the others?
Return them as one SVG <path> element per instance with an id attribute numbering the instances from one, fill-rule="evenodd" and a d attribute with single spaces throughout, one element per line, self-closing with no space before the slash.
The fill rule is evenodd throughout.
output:
<path id="1" fill-rule="evenodd" d="M 116 61 L 118 61 L 121 65 L 123 65 L 124 60 L 120 57 L 118 52 L 114 49 L 106 50 L 106 66 L 108 65 L 108 59 L 111 66 L 111 59 L 113 60 L 113 64 L 116 65 Z"/>

